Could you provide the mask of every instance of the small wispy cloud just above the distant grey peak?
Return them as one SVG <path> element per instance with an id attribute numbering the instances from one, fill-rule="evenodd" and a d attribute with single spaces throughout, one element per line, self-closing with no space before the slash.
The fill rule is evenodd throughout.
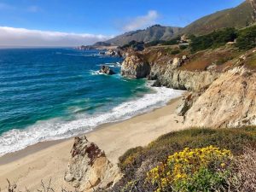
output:
<path id="1" fill-rule="evenodd" d="M 123 27 L 123 30 L 125 32 L 129 32 L 137 29 L 143 29 L 147 26 L 152 26 L 155 24 L 158 18 L 159 14 L 157 11 L 149 10 L 147 15 L 138 16 L 130 20 L 130 22 Z"/>

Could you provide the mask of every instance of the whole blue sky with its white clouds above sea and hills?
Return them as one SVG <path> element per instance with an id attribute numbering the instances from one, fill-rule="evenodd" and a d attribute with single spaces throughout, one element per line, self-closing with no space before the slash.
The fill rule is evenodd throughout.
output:
<path id="1" fill-rule="evenodd" d="M 0 46 L 94 44 L 154 24 L 186 26 L 243 0 L 0 0 Z"/>

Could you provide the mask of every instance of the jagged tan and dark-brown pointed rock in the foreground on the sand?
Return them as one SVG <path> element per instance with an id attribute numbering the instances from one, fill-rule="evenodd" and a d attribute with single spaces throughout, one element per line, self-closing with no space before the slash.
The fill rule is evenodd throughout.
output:
<path id="1" fill-rule="evenodd" d="M 117 166 L 87 138 L 75 137 L 65 180 L 79 191 L 109 189 L 121 177 Z"/>

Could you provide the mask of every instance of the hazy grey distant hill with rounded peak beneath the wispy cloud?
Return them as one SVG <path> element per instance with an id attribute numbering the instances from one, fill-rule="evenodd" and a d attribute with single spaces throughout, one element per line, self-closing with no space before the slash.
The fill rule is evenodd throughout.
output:
<path id="1" fill-rule="evenodd" d="M 181 29 L 181 27 L 154 25 L 144 30 L 125 32 L 122 35 L 109 39 L 108 41 L 106 41 L 106 43 L 113 45 L 124 45 L 128 44 L 133 40 L 137 42 L 143 41 L 145 43 L 154 40 L 169 40 L 175 34 L 180 32 Z"/>

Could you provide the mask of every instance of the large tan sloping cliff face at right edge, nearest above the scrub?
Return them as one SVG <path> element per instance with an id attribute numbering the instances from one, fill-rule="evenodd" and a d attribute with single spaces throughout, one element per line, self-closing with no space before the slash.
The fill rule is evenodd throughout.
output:
<path id="1" fill-rule="evenodd" d="M 245 67 L 223 73 L 185 114 L 185 126 L 256 125 L 256 74 Z"/>

